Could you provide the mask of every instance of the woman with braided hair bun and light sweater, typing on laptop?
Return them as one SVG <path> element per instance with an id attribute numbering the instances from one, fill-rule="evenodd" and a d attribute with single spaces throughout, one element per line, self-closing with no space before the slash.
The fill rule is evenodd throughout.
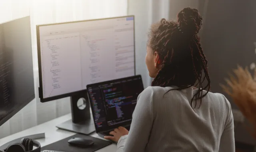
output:
<path id="1" fill-rule="evenodd" d="M 235 151 L 230 103 L 209 92 L 201 25 L 192 8 L 180 11 L 177 22 L 152 25 L 146 55 L 152 86 L 138 96 L 130 132 L 119 127 L 105 137 L 118 142 L 118 152 Z"/>

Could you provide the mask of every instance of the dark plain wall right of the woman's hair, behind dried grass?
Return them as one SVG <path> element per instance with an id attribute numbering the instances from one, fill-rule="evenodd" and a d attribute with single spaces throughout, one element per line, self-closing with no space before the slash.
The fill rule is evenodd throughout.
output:
<path id="1" fill-rule="evenodd" d="M 220 83 L 226 84 L 228 72 L 237 67 L 250 67 L 256 62 L 256 0 L 199 0 L 203 16 L 201 43 L 211 78 L 211 91 L 224 94 L 232 108 L 232 99 L 222 91 Z M 256 144 L 243 125 L 235 129 L 238 142 Z"/>

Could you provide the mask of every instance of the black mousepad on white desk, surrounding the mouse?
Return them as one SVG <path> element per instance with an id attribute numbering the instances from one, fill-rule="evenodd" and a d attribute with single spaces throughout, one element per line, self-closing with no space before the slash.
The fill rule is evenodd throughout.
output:
<path id="1" fill-rule="evenodd" d="M 70 144 L 68 144 L 68 140 L 74 137 L 81 137 L 81 138 L 93 140 L 94 144 L 88 148 L 71 146 Z M 104 148 L 110 144 L 112 144 L 112 142 L 102 140 L 99 138 L 94 138 L 84 134 L 75 134 L 74 136 L 70 136 L 68 138 L 59 140 L 58 142 L 54 142 L 52 144 L 46 145 L 42 147 L 41 150 L 53 150 L 53 151 L 55 150 L 55 151 L 61 151 L 61 152 L 95 152 L 96 150 Z"/>

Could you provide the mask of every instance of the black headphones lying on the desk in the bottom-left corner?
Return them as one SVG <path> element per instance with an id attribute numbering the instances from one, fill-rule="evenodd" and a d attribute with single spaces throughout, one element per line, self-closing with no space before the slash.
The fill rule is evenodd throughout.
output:
<path id="1" fill-rule="evenodd" d="M 33 150 L 33 146 L 36 149 Z M 4 151 L 0 150 L 0 152 L 40 152 L 41 145 L 38 141 L 32 140 L 30 138 L 22 138 L 20 143 L 10 144 Z"/>

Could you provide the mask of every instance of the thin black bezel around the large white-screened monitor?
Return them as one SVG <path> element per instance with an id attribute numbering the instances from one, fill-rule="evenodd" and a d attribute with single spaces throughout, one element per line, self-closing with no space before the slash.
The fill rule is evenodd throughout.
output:
<path id="1" fill-rule="evenodd" d="M 112 18 L 99 18 L 99 19 L 92 19 L 92 20 L 79 20 L 79 21 L 72 21 L 72 22 L 60 22 L 60 23 L 52 23 L 52 24 L 40 24 L 40 25 L 36 25 L 36 39 L 37 39 L 37 54 L 38 54 L 38 72 L 39 72 L 39 88 L 38 88 L 38 92 L 39 92 L 39 98 L 40 98 L 40 102 L 48 102 L 48 101 L 52 101 L 52 100 L 57 100 L 57 99 L 61 99 L 61 98 L 66 98 L 66 97 L 70 97 L 70 96 L 75 96 L 80 94 L 81 92 L 85 92 L 86 93 L 86 89 L 83 90 L 79 90 L 76 92 L 70 92 L 70 93 L 66 93 L 66 94 L 61 94 L 61 95 L 57 95 L 57 96 L 52 96 L 52 97 L 48 97 L 48 98 L 44 98 L 43 96 L 43 89 L 42 89 L 42 64 L 41 64 L 41 48 L 40 48 L 40 30 L 39 28 L 41 26 L 50 26 L 50 25 L 58 25 L 58 24 L 70 24 L 70 23 L 77 23 L 77 22 L 90 22 L 90 21 L 96 21 L 96 20 L 109 20 L 109 19 L 115 19 L 115 18 L 127 18 L 127 17 L 133 17 L 133 28 L 134 28 L 134 76 L 136 76 L 136 58 L 135 58 L 135 16 L 134 15 L 129 15 L 129 16 L 118 16 L 118 17 L 112 17 Z"/>

